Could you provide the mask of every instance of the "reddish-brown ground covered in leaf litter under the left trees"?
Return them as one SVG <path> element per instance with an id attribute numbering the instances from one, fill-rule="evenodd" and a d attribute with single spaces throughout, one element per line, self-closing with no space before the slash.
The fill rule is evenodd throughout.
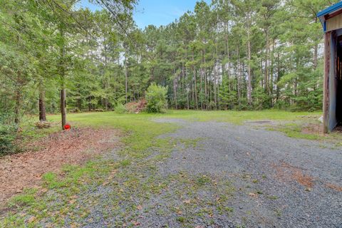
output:
<path id="1" fill-rule="evenodd" d="M 120 132 L 78 128 L 53 133 L 28 144 L 28 151 L 0 159 L 0 206 L 25 187 L 36 187 L 46 172 L 63 165 L 81 165 L 91 157 L 118 147 Z M 38 150 L 37 150 L 38 149 Z"/>

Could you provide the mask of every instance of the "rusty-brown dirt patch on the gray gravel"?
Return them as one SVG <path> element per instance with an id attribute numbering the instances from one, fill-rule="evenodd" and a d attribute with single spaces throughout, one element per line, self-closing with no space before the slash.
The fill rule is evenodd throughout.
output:
<path id="1" fill-rule="evenodd" d="M 303 170 L 301 170 L 299 167 L 289 165 L 286 162 L 281 162 L 280 165 L 274 165 L 274 167 L 276 169 L 276 176 L 279 177 L 280 180 L 295 180 L 304 187 L 311 188 L 314 186 L 314 178 L 310 177 L 309 175 L 305 175 Z"/>

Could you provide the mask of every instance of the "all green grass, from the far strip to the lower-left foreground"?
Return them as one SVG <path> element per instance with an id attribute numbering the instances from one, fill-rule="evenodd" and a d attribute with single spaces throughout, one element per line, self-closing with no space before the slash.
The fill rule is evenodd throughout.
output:
<path id="1" fill-rule="evenodd" d="M 318 133 L 302 133 L 301 129 L 308 124 L 317 124 L 319 116 L 321 116 L 321 113 L 291 113 L 280 110 L 244 112 L 170 110 L 165 114 L 116 114 L 114 112 L 68 114 L 68 121 L 73 128 L 90 126 L 93 128 L 118 128 L 122 130 L 125 133 L 122 138 L 125 146 L 118 152 L 120 159 L 102 160 L 99 158 L 89 161 L 84 166 L 66 165 L 63 168 L 63 176 L 48 172 L 43 176 L 43 192 L 36 189 L 25 190 L 24 194 L 17 195 L 9 201 L 10 212 L 0 220 L 0 227 L 36 227 L 38 224 L 42 224 L 41 222 L 46 222 L 47 218 L 49 225 L 58 227 L 63 226 L 66 216 L 69 218 L 86 217 L 89 208 L 78 204 L 75 195 L 87 192 L 94 186 L 104 185 L 104 183 L 117 191 L 117 197 L 110 202 L 113 205 L 113 210 L 118 209 L 119 201 L 125 199 L 130 192 L 135 192 L 134 194 L 137 197 L 144 197 L 144 195 L 152 195 L 152 193 L 162 190 L 170 180 L 159 180 L 154 175 L 151 175 L 148 179 L 138 178 L 140 172 L 142 170 L 145 170 L 144 172 L 155 172 L 156 162 L 168 157 L 177 143 L 192 146 L 196 142 L 193 140 L 178 140 L 175 142 L 170 138 L 157 138 L 158 135 L 170 133 L 180 128 L 180 126 L 157 123 L 152 119 L 212 120 L 238 125 L 243 124 L 246 120 L 274 120 L 280 124 L 266 126 L 266 128 L 280 130 L 291 137 L 317 140 L 321 138 Z M 48 116 L 48 120 L 53 122 L 58 122 L 59 118 L 59 115 Z M 53 130 L 58 130 L 58 128 L 59 125 L 56 125 Z M 24 134 L 41 137 L 53 130 L 37 132 L 36 129 L 26 127 L 24 128 Z M 327 136 L 326 138 L 339 137 L 341 135 Z M 147 157 L 151 155 L 149 148 L 158 150 L 159 155 L 147 160 Z M 115 170 L 114 176 L 113 170 Z M 109 184 L 108 180 L 110 180 Z M 188 181 L 196 182 L 196 180 Z M 132 200 L 127 200 L 126 203 L 130 209 L 136 209 L 137 205 Z M 90 199 L 90 202 L 95 201 L 96 199 Z M 118 210 L 119 212 L 120 210 Z M 123 223 L 119 222 L 117 225 L 120 226 Z"/>

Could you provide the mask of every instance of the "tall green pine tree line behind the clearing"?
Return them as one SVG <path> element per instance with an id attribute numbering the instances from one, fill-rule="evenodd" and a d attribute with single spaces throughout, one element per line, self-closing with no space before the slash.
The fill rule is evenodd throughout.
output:
<path id="1" fill-rule="evenodd" d="M 0 113 L 113 110 L 167 87 L 170 108 L 320 110 L 329 0 L 198 1 L 167 26 L 138 28 L 136 1 L 2 0 Z"/>

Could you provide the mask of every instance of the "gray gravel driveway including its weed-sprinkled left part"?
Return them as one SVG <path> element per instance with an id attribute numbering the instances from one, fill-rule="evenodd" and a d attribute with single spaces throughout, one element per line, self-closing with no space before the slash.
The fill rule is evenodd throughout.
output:
<path id="1" fill-rule="evenodd" d="M 64 227 L 342 227 L 342 151 L 333 145 L 255 125 L 155 121 L 180 128 L 130 162 L 104 157 L 120 168 L 84 186 Z"/>

